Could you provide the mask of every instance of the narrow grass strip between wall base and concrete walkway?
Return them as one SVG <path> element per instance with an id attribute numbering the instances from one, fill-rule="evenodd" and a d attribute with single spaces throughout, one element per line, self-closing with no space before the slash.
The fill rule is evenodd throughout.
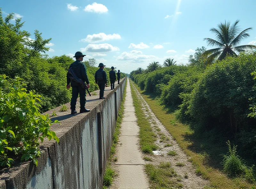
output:
<path id="1" fill-rule="evenodd" d="M 126 83 L 127 86 L 127 83 Z M 125 96 L 126 96 L 126 87 L 124 89 L 124 96 L 123 96 L 123 101 L 121 102 L 121 107 L 118 112 L 118 117 L 116 120 L 116 130 L 112 138 L 112 146 L 110 148 L 110 155 L 108 157 L 108 163 L 107 163 L 107 168 L 103 176 L 103 189 L 107 189 L 109 186 L 112 185 L 113 179 L 116 176 L 116 173 L 114 169 L 111 166 L 111 162 L 116 162 L 117 157 L 114 156 L 116 154 L 116 145 L 118 144 L 118 138 L 120 135 L 120 129 L 121 129 L 121 124 L 122 120 L 124 117 L 124 101 L 125 101 Z"/>

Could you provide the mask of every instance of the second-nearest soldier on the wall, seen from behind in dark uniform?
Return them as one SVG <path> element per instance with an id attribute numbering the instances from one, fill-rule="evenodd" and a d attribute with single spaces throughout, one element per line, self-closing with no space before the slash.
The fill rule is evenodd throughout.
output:
<path id="1" fill-rule="evenodd" d="M 104 89 L 107 87 L 107 73 L 103 70 L 105 65 L 100 63 L 98 66 L 100 69 L 96 71 L 94 79 L 100 88 L 100 99 L 105 99 L 104 97 Z"/>

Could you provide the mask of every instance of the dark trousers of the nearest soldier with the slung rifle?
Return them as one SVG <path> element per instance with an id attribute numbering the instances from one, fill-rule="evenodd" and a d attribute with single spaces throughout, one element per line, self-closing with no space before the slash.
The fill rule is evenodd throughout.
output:
<path id="1" fill-rule="evenodd" d="M 72 98 L 70 102 L 70 109 L 76 110 L 76 99 L 80 94 L 80 109 L 85 109 L 86 93 L 82 87 L 72 87 Z"/>

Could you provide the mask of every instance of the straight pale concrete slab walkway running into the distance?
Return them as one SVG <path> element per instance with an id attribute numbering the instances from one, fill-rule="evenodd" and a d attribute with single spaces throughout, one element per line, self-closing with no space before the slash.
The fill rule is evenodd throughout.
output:
<path id="1" fill-rule="evenodd" d="M 119 138 L 121 145 L 117 147 L 117 162 L 115 163 L 119 172 L 116 185 L 118 189 L 148 189 L 147 177 L 144 173 L 145 161 L 139 150 L 139 126 L 136 123 L 129 79 L 124 106 L 124 118 Z"/>

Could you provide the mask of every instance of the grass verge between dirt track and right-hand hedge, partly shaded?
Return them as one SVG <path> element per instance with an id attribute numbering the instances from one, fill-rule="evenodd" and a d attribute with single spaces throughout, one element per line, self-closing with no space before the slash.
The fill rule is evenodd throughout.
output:
<path id="1" fill-rule="evenodd" d="M 232 179 L 222 172 L 220 162 L 222 157 L 220 154 L 227 153 L 227 146 L 223 140 L 223 136 L 219 136 L 218 132 L 205 132 L 204 135 L 200 132 L 193 131 L 188 125 L 179 123 L 176 120 L 175 114 L 169 113 L 164 106 L 160 104 L 154 94 L 147 94 L 141 91 L 140 88 L 134 84 L 135 87 L 142 94 L 150 106 L 153 113 L 165 126 L 165 128 L 172 134 L 172 137 L 177 141 L 183 151 L 190 157 L 188 161 L 197 167 L 197 174 L 201 174 L 203 178 L 209 180 L 210 186 L 207 189 L 252 189 L 255 184 L 250 184 L 244 179 Z M 175 126 L 170 123 L 175 123 Z"/>

